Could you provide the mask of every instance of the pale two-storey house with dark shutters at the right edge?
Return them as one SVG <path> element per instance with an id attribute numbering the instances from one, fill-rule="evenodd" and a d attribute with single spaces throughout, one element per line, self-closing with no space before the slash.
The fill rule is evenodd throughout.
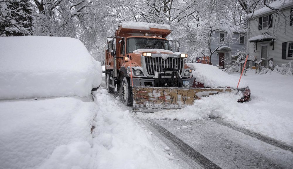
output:
<path id="1" fill-rule="evenodd" d="M 286 64 L 293 59 L 293 1 L 275 1 L 268 6 L 249 15 L 247 49 L 258 61 Z"/>

